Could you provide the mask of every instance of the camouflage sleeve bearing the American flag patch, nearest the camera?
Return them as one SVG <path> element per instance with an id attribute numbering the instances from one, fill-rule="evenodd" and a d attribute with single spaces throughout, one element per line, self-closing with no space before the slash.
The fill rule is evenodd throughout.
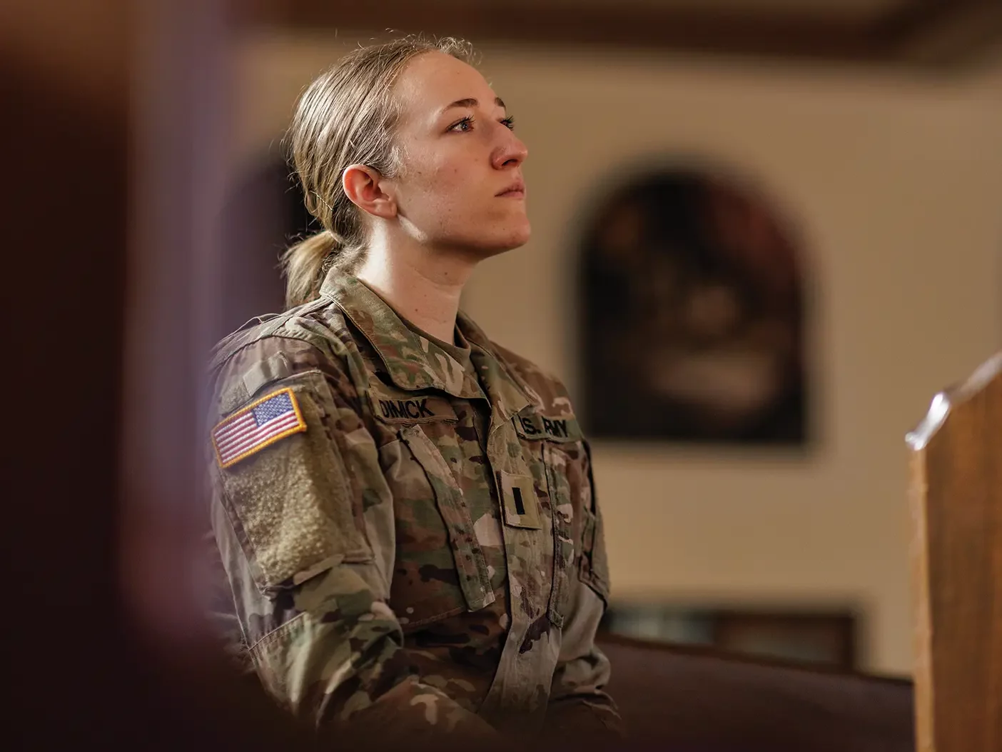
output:
<path id="1" fill-rule="evenodd" d="M 274 353 L 225 366 L 220 382 L 232 386 L 210 438 L 212 528 L 257 674 L 322 735 L 492 738 L 409 660 L 387 604 L 392 567 L 381 563 L 394 541 L 366 533 L 370 494 L 385 480 L 354 387 L 312 354 L 279 354 L 280 375 L 292 373 L 257 390 L 241 373 L 261 373 Z M 278 433 L 255 427 L 276 420 Z"/>

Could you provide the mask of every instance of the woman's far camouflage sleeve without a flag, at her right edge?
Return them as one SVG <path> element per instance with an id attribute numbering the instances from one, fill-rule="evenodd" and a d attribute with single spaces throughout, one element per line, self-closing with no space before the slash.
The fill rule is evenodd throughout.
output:
<path id="1" fill-rule="evenodd" d="M 581 516 L 577 577 L 563 625 L 560 657 L 550 688 L 544 735 L 554 740 L 581 739 L 589 743 L 622 739 L 622 720 L 615 702 L 604 691 L 609 661 L 595 644 L 595 634 L 609 595 L 608 565 L 602 518 L 591 478 L 587 443 L 577 471 Z"/>

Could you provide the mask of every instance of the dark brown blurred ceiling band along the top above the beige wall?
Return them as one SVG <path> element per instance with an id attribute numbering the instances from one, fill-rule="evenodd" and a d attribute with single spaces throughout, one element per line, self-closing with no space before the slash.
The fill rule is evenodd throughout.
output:
<path id="1" fill-rule="evenodd" d="M 255 0 L 286 30 L 455 34 L 936 69 L 1002 46 L 1000 0 Z"/>

